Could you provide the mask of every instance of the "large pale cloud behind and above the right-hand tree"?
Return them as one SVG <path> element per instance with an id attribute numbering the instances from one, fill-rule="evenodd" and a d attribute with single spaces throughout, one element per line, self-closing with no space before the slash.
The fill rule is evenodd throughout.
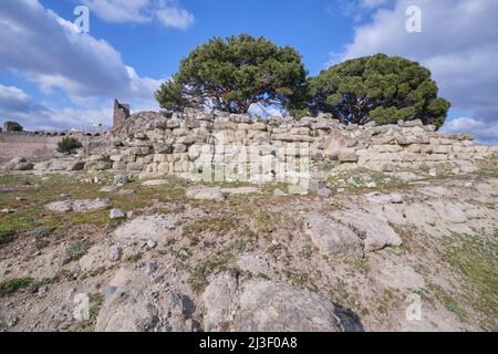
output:
<path id="1" fill-rule="evenodd" d="M 405 30 L 409 6 L 422 10 L 422 33 Z M 416 60 L 432 70 L 453 108 L 471 112 L 471 118 L 483 124 L 497 122 L 498 27 L 492 25 L 497 18 L 495 0 L 397 0 L 374 10 L 355 28 L 341 60 L 374 53 Z M 460 118 L 458 124 L 463 123 L 470 124 Z"/>

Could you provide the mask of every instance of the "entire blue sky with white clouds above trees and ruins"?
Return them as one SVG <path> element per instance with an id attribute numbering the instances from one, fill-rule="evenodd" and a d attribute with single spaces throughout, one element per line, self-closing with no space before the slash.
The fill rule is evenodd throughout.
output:
<path id="1" fill-rule="evenodd" d="M 406 30 L 409 6 L 421 32 Z M 1 0 L 0 122 L 111 125 L 114 98 L 157 111 L 155 90 L 189 51 L 249 33 L 295 48 L 310 75 L 375 53 L 418 61 L 452 102 L 443 132 L 498 144 L 496 19 L 496 0 Z"/>

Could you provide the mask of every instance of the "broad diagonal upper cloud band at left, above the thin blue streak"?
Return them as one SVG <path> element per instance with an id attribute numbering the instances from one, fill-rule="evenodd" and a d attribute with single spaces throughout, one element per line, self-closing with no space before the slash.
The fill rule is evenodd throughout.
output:
<path id="1" fill-rule="evenodd" d="M 138 76 L 111 44 L 81 34 L 37 0 L 2 1 L 0 70 L 20 72 L 44 91 L 62 87 L 75 97 L 151 97 L 162 82 Z"/>

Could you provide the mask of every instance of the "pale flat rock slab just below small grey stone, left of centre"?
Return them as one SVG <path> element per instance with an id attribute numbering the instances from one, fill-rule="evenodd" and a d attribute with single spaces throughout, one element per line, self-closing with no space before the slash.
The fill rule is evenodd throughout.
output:
<path id="1" fill-rule="evenodd" d="M 135 218 L 112 233 L 115 240 L 122 241 L 160 241 L 175 229 L 176 218 L 174 216 L 151 215 Z"/>

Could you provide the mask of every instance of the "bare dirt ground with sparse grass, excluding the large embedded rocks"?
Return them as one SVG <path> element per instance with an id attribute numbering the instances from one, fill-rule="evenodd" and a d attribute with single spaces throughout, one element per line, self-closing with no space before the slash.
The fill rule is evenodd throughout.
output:
<path id="1" fill-rule="evenodd" d="M 402 186 L 352 186 L 330 197 L 276 197 L 286 186 L 264 185 L 225 201 L 189 199 L 185 190 L 194 184 L 173 178 L 102 191 L 112 176 L 100 174 L 97 184 L 89 183 L 93 175 L 1 176 L 0 209 L 10 212 L 0 214 L 0 330 L 102 330 L 115 304 L 110 292 L 124 277 L 127 287 L 141 289 L 129 295 L 148 303 L 158 319 L 166 291 L 191 299 L 191 329 L 203 331 L 206 288 L 220 274 L 237 274 L 319 294 L 363 331 L 497 331 L 492 165 Z M 95 198 L 106 207 L 45 208 Z M 112 220 L 112 208 L 133 215 Z M 365 242 L 394 232 L 402 243 L 355 258 L 323 252 L 309 232 L 317 212 L 342 220 Z M 90 299 L 85 320 L 75 315 L 79 294 Z M 116 309 L 127 309 L 132 320 L 139 313 Z M 137 329 L 160 331 L 160 321 Z"/>

